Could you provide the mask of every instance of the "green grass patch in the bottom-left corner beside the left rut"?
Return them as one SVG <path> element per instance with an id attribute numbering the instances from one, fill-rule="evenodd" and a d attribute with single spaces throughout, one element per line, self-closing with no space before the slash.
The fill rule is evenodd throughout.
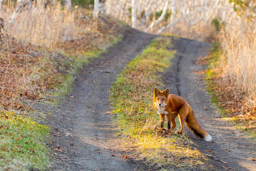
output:
<path id="1" fill-rule="evenodd" d="M 10 112 L 0 112 L 0 170 L 44 170 L 50 150 L 44 143 L 50 128 Z"/>

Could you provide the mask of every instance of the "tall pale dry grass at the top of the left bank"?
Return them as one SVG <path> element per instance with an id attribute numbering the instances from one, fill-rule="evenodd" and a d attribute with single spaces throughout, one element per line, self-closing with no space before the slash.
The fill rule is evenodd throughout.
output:
<path id="1" fill-rule="evenodd" d="M 26 7 L 16 14 L 14 5 L 5 7 L 3 19 L 11 36 L 22 42 L 53 47 L 66 40 L 81 38 L 92 29 L 93 21 L 86 18 L 90 11 L 63 10 L 60 2 L 45 8 L 40 2 L 32 3 L 31 8 Z"/>

